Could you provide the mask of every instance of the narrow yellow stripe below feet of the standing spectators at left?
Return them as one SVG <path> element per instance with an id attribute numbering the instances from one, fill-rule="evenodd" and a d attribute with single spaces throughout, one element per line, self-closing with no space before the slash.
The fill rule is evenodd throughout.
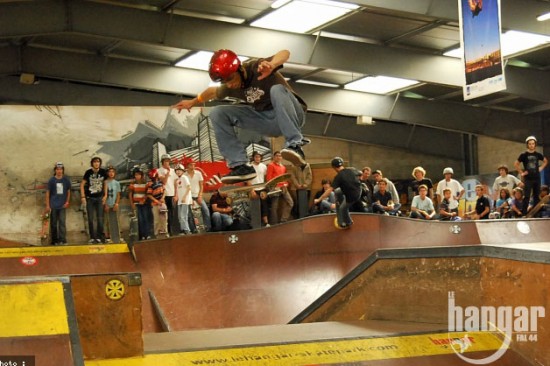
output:
<path id="1" fill-rule="evenodd" d="M 0 258 L 50 257 L 57 255 L 128 253 L 126 244 L 58 245 L 43 247 L 0 248 Z"/>

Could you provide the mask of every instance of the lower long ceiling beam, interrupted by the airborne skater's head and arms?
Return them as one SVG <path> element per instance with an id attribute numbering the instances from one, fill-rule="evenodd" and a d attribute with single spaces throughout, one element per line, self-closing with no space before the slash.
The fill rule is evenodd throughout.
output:
<path id="1" fill-rule="evenodd" d="M 97 54 L 76 54 L 32 47 L 23 47 L 21 52 L 17 51 L 17 47 L 0 48 L 0 59 L 4 60 L 0 64 L 0 74 L 18 76 L 20 72 L 25 72 L 38 75 L 38 81 L 41 76 L 132 91 L 137 89 L 161 92 L 174 95 L 174 101 L 178 99 L 178 95 L 195 96 L 209 81 L 208 73 L 203 71 L 107 59 Z M 11 65 L 11 69 L 6 65 Z M 333 112 L 353 117 L 368 115 L 377 119 L 509 140 L 529 134 L 532 126 L 536 122 L 540 123 L 540 118 L 536 116 L 491 111 L 462 103 L 381 96 L 298 83 L 293 83 L 292 86 L 308 102 L 312 111 Z M 5 91 L 9 93 L 12 89 L 8 88 Z M 49 96 L 45 95 L 43 98 L 47 99 Z M 14 96 L 13 99 L 17 98 Z M 24 100 L 23 98 L 23 102 Z M 39 99 L 34 103 L 41 104 Z M 60 99 L 56 104 L 70 105 L 71 99 Z"/>

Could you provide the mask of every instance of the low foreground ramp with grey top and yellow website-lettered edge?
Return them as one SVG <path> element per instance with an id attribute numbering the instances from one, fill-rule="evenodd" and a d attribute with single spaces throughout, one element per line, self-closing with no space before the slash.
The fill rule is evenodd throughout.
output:
<path id="1" fill-rule="evenodd" d="M 94 360 L 87 366 L 153 365 L 468 365 L 450 346 L 466 333 L 449 333 L 441 324 L 391 321 L 324 322 L 246 328 L 181 331 L 145 335 L 145 355 Z M 462 355 L 490 356 L 501 340 L 469 333 L 472 346 Z M 529 365 L 507 350 L 498 365 Z"/>

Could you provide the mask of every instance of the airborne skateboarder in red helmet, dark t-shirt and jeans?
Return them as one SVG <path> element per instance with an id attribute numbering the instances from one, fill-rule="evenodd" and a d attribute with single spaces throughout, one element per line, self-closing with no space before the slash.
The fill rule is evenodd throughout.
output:
<path id="1" fill-rule="evenodd" d="M 298 166 L 305 164 L 302 145 L 309 141 L 303 138 L 300 129 L 307 106 L 279 72 L 289 57 L 290 52 L 282 50 L 267 58 L 241 63 L 233 51 L 216 51 L 210 60 L 209 74 L 213 81 L 222 84 L 206 88 L 195 98 L 174 106 L 181 111 L 211 99 L 233 97 L 244 101 L 245 105 L 220 105 L 210 112 L 218 147 L 231 168 L 231 172 L 221 178 L 223 183 L 256 177 L 235 127 L 267 136 L 284 136 L 283 158 Z"/>

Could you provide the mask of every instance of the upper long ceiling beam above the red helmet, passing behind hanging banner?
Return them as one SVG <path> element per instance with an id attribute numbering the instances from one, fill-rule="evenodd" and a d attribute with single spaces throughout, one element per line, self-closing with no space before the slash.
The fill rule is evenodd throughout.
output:
<path id="1" fill-rule="evenodd" d="M 415 3 L 414 6 L 410 4 L 404 8 L 411 10 L 409 8 L 414 7 L 412 10 L 421 12 L 428 11 L 424 8 L 432 2 L 390 0 L 388 3 L 389 6 Z M 290 61 L 299 64 L 451 86 L 462 86 L 463 83 L 461 61 L 450 57 L 324 37 L 315 42 L 315 37 L 311 35 L 277 32 L 101 3 L 69 2 L 69 11 L 64 4 L 66 3 L 61 1 L 44 1 L 3 5 L 0 12 L 0 39 L 76 32 L 184 50 L 230 48 L 246 56 L 270 55 L 286 48 L 291 51 Z M 45 13 L 49 16 L 44 17 Z M 68 13 L 71 14 L 70 19 Z M 21 19 L 25 21 L 21 22 Z M 69 20 L 70 24 L 67 25 Z M 510 93 L 548 101 L 548 72 L 508 67 L 507 73 L 511 74 L 507 83 Z M 532 84 L 523 81 L 527 79 L 537 80 L 537 88 L 532 88 Z"/>

